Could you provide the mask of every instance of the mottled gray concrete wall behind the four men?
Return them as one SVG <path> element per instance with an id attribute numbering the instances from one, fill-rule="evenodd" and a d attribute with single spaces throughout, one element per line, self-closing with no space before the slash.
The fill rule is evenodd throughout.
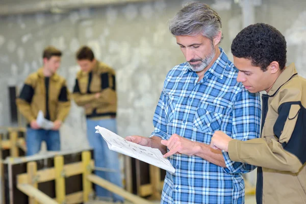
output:
<path id="1" fill-rule="evenodd" d="M 21 88 L 27 75 L 42 66 L 45 46 L 52 44 L 63 51 L 59 73 L 72 91 L 79 70 L 75 51 L 87 44 L 98 60 L 117 72 L 118 134 L 149 136 L 165 75 L 174 65 L 185 61 L 169 33 L 167 21 L 186 2 L 164 0 L 64 14 L 0 17 L 0 126 L 11 125 L 7 87 Z M 221 47 L 232 59 L 231 41 L 242 29 L 240 6 L 227 0 L 203 2 L 220 14 L 224 34 Z M 288 63 L 295 62 L 300 74 L 306 77 L 306 2 L 267 0 L 256 7 L 255 13 L 257 22 L 270 23 L 285 34 Z M 61 133 L 62 149 L 88 145 L 84 113 L 74 103 Z"/>

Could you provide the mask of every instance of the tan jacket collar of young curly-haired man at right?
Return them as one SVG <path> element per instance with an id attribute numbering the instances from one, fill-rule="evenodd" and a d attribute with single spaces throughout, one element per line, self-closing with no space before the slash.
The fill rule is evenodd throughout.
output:
<path id="1" fill-rule="evenodd" d="M 296 75 L 297 71 L 295 69 L 294 63 L 291 63 L 286 67 L 281 74 L 279 74 L 275 83 L 273 84 L 271 90 L 268 92 L 268 95 L 274 95 L 279 88 L 281 88 L 286 82 L 288 82 L 293 75 Z"/>

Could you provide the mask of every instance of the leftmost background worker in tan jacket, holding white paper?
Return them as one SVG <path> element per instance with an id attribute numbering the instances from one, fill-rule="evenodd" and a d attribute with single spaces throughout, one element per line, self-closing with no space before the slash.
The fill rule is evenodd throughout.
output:
<path id="1" fill-rule="evenodd" d="M 70 97 L 63 77 L 56 73 L 61 65 L 62 53 L 53 46 L 43 51 L 43 67 L 25 80 L 16 104 L 21 114 L 27 118 L 27 156 L 39 152 L 41 142 L 45 141 L 47 150 L 60 150 L 59 129 L 69 113 Z M 52 130 L 44 130 L 37 124 L 39 111 L 54 122 Z"/>

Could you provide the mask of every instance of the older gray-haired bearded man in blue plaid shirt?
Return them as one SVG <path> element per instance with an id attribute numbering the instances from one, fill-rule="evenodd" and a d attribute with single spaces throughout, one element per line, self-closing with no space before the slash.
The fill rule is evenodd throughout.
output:
<path id="1" fill-rule="evenodd" d="M 187 62 L 167 74 L 151 136 L 126 137 L 159 148 L 175 168 L 166 174 L 161 203 L 244 203 L 242 173 L 256 168 L 210 147 L 215 131 L 238 140 L 260 135 L 259 94 L 236 81 L 238 69 L 218 46 L 221 25 L 217 12 L 198 2 L 170 20 Z"/>

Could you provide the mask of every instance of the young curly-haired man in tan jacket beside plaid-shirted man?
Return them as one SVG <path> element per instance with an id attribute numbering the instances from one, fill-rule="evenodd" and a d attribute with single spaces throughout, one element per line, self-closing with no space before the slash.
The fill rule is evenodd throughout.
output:
<path id="1" fill-rule="evenodd" d="M 257 203 L 306 203 L 306 80 L 294 64 L 285 67 L 285 37 L 271 25 L 249 25 L 234 39 L 232 53 L 237 81 L 251 93 L 267 92 L 261 138 L 240 141 L 217 131 L 211 147 L 259 166 Z"/>

